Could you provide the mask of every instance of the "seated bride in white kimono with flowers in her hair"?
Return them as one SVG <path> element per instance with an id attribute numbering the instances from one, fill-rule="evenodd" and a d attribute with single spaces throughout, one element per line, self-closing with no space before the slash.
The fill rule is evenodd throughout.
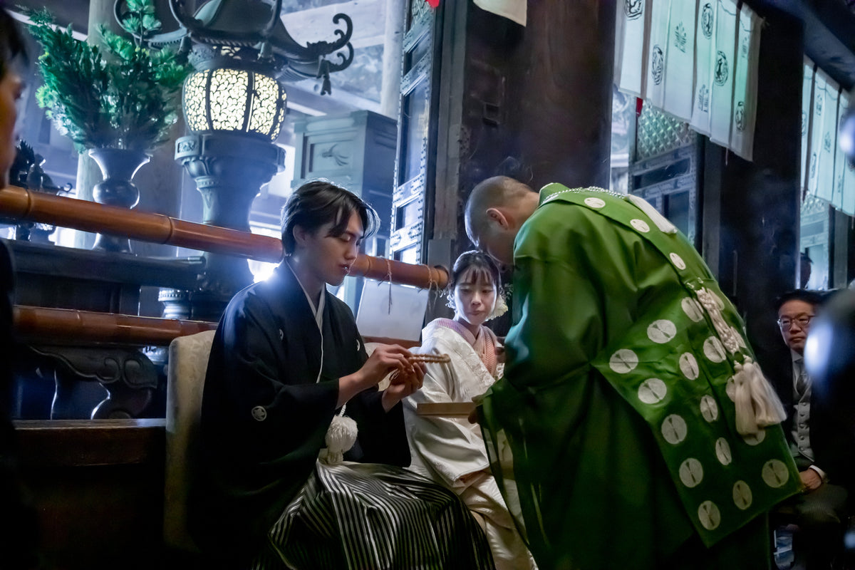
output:
<path id="1" fill-rule="evenodd" d="M 420 416 L 419 403 L 468 403 L 501 376 L 496 335 L 483 323 L 507 310 L 498 295 L 498 267 L 481 251 L 457 258 L 448 285 L 454 319 L 436 319 L 422 330 L 423 354 L 447 354 L 448 363 L 428 363 L 422 390 L 404 400 L 410 469 L 445 485 L 480 514 L 498 570 L 535 568 L 490 473 L 481 427 L 466 418 Z M 497 303 L 498 301 L 498 303 Z M 498 307 L 497 307 L 498 305 Z M 497 350 L 498 349 L 498 350 Z"/>

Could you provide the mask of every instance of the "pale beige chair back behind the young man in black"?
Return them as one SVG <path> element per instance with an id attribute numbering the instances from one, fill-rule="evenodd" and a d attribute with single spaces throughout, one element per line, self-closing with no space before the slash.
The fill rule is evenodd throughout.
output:
<path id="1" fill-rule="evenodd" d="M 169 344 L 166 399 L 166 485 L 163 538 L 169 547 L 198 553 L 187 531 L 187 492 L 195 461 L 202 390 L 215 331 L 175 338 Z"/>

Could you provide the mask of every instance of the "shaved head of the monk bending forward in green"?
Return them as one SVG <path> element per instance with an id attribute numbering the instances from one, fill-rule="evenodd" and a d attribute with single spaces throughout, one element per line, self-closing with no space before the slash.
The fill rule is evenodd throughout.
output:
<path id="1" fill-rule="evenodd" d="M 504 265 L 513 265 L 514 239 L 537 209 L 540 195 L 507 176 L 475 185 L 466 201 L 466 233 L 479 250 Z"/>

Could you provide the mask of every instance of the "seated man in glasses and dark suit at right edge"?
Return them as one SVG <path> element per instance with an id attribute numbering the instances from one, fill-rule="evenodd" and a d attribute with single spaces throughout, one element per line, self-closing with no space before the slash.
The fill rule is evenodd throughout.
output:
<path id="1" fill-rule="evenodd" d="M 792 511 L 799 526 L 795 550 L 807 568 L 828 568 L 840 553 L 846 528 L 846 503 L 852 477 L 853 440 L 812 397 L 805 371 L 805 341 L 811 320 L 823 303 L 817 291 L 789 291 L 778 297 L 778 326 L 790 350 L 791 363 L 775 384 L 787 409 L 784 432 L 802 480 L 801 495 L 787 499 L 781 511 Z M 771 369 L 771 368 L 770 368 Z"/>

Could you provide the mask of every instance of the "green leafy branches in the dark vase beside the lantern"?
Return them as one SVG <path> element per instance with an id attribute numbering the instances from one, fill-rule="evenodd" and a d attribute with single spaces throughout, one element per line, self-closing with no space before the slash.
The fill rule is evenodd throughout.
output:
<path id="1" fill-rule="evenodd" d="M 79 152 L 91 148 L 151 150 L 178 120 L 181 85 L 192 68 L 174 52 L 151 50 L 144 38 L 160 28 L 153 0 L 127 0 L 121 26 L 134 39 L 99 31 L 106 49 L 62 31 L 47 9 L 30 11 L 30 30 L 44 54 L 39 107 Z"/>

